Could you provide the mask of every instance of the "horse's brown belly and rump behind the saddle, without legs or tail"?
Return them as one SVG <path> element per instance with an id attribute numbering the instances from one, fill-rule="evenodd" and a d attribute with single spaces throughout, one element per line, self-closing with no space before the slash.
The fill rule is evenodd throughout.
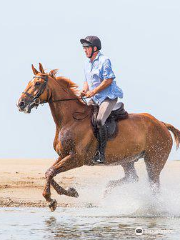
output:
<path id="1" fill-rule="evenodd" d="M 153 152 L 167 158 L 171 148 L 171 134 L 159 120 L 149 114 L 129 114 L 128 119 L 118 122 L 117 136 L 108 141 L 106 159 L 108 164 L 121 164 Z"/>

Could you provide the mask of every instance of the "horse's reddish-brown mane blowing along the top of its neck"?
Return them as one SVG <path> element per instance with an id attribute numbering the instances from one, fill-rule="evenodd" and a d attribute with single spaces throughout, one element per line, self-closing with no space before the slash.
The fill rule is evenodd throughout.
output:
<path id="1" fill-rule="evenodd" d="M 73 81 L 71 81 L 69 78 L 66 78 L 64 76 L 56 76 L 57 71 L 58 71 L 57 69 L 51 70 L 49 75 L 52 78 L 54 78 L 56 81 L 62 83 L 63 86 L 65 86 L 65 88 L 70 90 L 72 93 L 72 97 L 74 97 L 74 98 L 77 97 L 81 103 L 84 103 L 83 100 L 79 98 L 80 90 L 78 89 L 78 85 L 76 83 L 74 83 Z"/>

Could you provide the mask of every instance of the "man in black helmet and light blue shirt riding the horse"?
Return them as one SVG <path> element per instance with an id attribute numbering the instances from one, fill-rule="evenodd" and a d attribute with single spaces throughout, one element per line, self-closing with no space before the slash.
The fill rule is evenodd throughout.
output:
<path id="1" fill-rule="evenodd" d="M 91 98 L 90 104 L 99 105 L 97 115 L 98 127 L 98 151 L 95 161 L 105 161 L 104 151 L 106 147 L 106 119 L 109 117 L 118 97 L 123 97 L 122 90 L 116 85 L 115 75 L 112 71 L 111 61 L 104 56 L 101 50 L 101 41 L 96 36 L 87 36 L 80 40 L 86 57 L 89 58 L 85 65 L 85 81 L 81 96 Z"/>

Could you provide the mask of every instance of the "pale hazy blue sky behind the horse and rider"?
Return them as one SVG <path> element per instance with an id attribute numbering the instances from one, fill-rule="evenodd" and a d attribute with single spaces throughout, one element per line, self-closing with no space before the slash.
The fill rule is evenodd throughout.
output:
<path id="1" fill-rule="evenodd" d="M 16 102 L 31 64 L 82 87 L 79 39 L 97 35 L 129 112 L 149 112 L 180 129 L 180 1 L 0 1 L 0 158 L 57 157 L 48 105 L 20 113 Z M 175 148 L 169 159 L 180 159 Z"/>

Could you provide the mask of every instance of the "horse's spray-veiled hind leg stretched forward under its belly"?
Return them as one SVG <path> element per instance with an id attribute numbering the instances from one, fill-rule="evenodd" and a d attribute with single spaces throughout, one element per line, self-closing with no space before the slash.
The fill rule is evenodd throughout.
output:
<path id="1" fill-rule="evenodd" d="M 110 192 L 110 189 L 121 186 L 126 183 L 132 183 L 132 182 L 137 182 L 139 180 L 139 177 L 137 176 L 136 169 L 134 167 L 134 162 L 128 162 L 121 164 L 121 166 L 124 169 L 124 174 L 125 176 L 119 180 L 113 180 L 110 181 L 107 185 L 107 190 L 106 193 Z"/>

